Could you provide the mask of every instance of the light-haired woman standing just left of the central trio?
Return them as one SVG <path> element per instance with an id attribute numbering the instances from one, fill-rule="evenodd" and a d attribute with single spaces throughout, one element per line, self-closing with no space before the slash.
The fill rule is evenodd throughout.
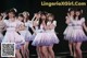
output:
<path id="1" fill-rule="evenodd" d="M 25 45 L 24 45 L 24 49 L 25 49 L 25 53 L 26 53 L 26 57 L 28 58 L 28 55 L 29 55 L 29 50 L 28 50 L 28 45 L 29 45 L 29 42 L 34 39 L 34 37 L 32 36 L 30 32 L 28 31 L 28 27 L 30 27 L 33 30 L 33 32 L 35 33 L 35 30 L 34 30 L 34 25 L 33 25 L 33 22 L 35 20 L 35 16 L 29 20 L 29 13 L 28 12 L 23 12 L 23 15 L 24 15 L 24 24 L 25 24 L 25 31 L 26 31 L 26 35 L 25 35 Z"/>

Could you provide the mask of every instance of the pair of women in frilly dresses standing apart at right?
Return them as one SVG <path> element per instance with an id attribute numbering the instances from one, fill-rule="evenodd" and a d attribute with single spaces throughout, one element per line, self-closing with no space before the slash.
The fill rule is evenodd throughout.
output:
<path id="1" fill-rule="evenodd" d="M 67 16 L 65 16 L 67 27 L 64 31 L 64 39 L 69 40 L 69 48 L 71 56 L 74 58 L 83 58 L 82 43 L 87 40 L 84 30 L 87 32 L 83 10 L 69 9 Z"/>

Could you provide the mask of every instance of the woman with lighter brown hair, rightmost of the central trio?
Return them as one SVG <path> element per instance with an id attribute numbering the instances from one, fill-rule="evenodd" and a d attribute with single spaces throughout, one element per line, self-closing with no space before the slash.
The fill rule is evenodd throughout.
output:
<path id="1" fill-rule="evenodd" d="M 47 37 L 47 40 L 48 40 L 47 42 L 47 45 L 48 45 L 47 50 L 48 50 L 48 56 L 50 58 L 54 58 L 54 53 L 53 53 L 52 47 L 54 44 L 59 44 L 59 38 L 54 32 L 54 28 L 57 26 L 57 21 L 54 20 L 53 14 L 49 14 L 47 16 L 47 20 L 48 20 L 47 30 L 46 30 L 46 33 L 47 33 L 46 35 L 48 36 Z"/>

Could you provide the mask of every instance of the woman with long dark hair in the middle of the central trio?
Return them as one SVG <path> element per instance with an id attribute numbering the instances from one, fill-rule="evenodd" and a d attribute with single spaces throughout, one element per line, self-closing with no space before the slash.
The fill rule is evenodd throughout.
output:
<path id="1" fill-rule="evenodd" d="M 39 38 L 41 38 L 41 34 L 44 32 L 44 25 L 45 25 L 45 22 L 46 22 L 46 14 L 45 13 L 41 13 L 40 15 L 40 20 L 39 20 L 39 25 L 38 25 L 38 33 L 36 34 L 35 36 L 35 39 L 33 40 L 33 44 L 34 46 L 37 46 L 37 54 L 38 54 L 38 58 L 42 58 L 42 55 L 41 55 L 41 44 L 39 45 Z"/>

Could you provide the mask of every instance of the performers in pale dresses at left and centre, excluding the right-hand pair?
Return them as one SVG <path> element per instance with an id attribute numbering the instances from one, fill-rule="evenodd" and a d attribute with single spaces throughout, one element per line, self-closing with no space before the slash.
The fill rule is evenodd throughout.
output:
<path id="1" fill-rule="evenodd" d="M 15 58 L 29 58 L 29 42 L 36 46 L 38 58 L 54 58 L 52 47 L 59 44 L 59 38 L 54 32 L 57 21 L 53 14 L 38 12 L 30 20 L 27 11 L 18 15 L 16 12 L 16 9 L 13 8 L 8 13 L 0 14 L 1 43 L 15 43 Z M 32 28 L 33 34 L 28 27 Z M 3 31 L 7 31 L 4 36 Z"/>

